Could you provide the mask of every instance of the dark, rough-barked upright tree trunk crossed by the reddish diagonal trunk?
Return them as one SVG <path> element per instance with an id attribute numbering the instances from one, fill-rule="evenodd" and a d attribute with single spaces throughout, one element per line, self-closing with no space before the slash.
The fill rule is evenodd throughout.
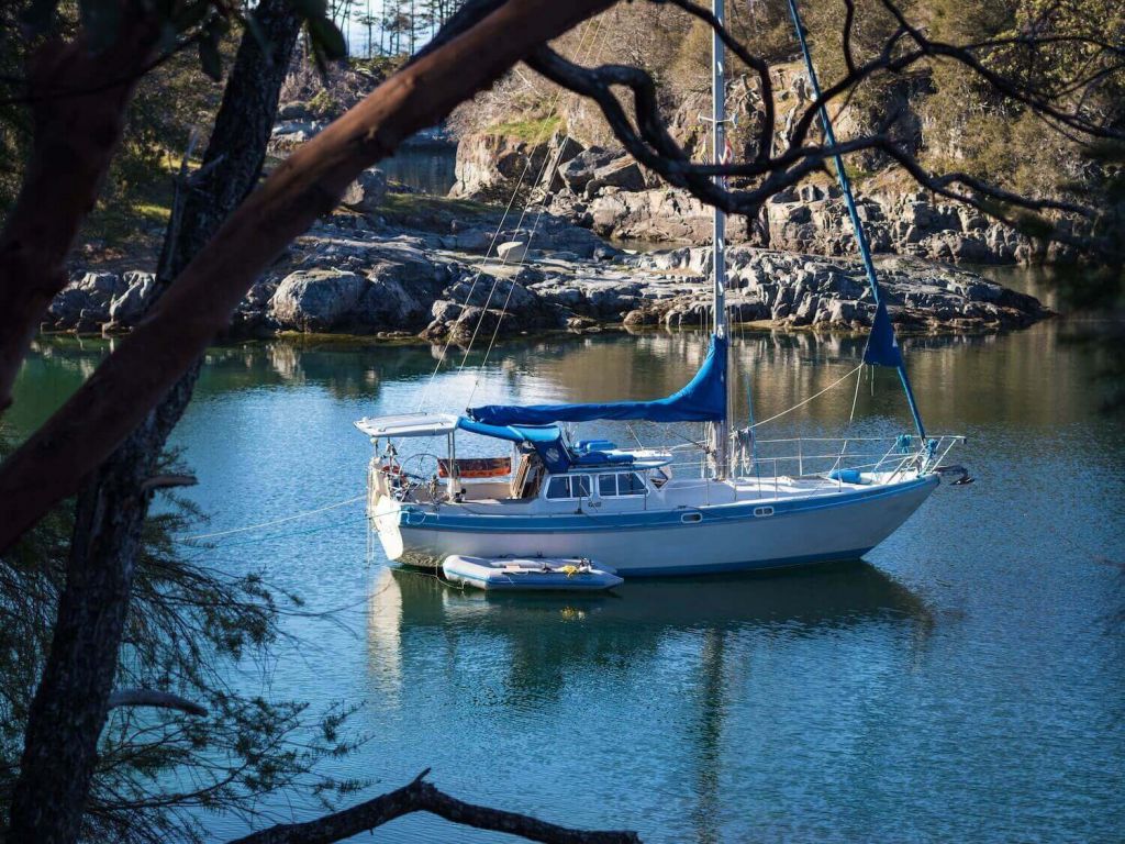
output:
<path id="1" fill-rule="evenodd" d="M 173 215 L 180 222 L 170 224 L 164 239 L 158 295 L 261 172 L 300 20 L 288 0 L 263 0 L 255 17 L 271 54 L 262 52 L 254 35 L 243 35 L 204 156 L 204 176 L 181 186 L 182 207 Z M 72 842 L 78 835 L 148 510 L 142 485 L 155 474 L 198 372 L 196 361 L 79 493 L 66 589 L 28 718 L 9 843 Z"/>

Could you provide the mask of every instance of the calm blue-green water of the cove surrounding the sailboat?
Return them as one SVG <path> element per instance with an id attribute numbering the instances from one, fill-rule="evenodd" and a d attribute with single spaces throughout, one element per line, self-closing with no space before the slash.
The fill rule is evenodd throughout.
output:
<path id="1" fill-rule="evenodd" d="M 338 609 L 288 621 L 302 643 L 269 673 L 314 708 L 363 702 L 352 727 L 370 740 L 327 770 L 374 789 L 431 766 L 462 798 L 649 842 L 1122 841 L 1125 431 L 1054 325 L 906 345 L 929 427 L 970 438 L 958 459 L 978 483 L 938 490 L 863 563 L 485 599 L 368 557 L 360 504 L 216 540 L 208 558 Z M 759 417 L 858 350 L 781 334 L 737 348 Z M 9 420 L 42 419 L 104 351 L 40 347 Z M 510 343 L 475 401 L 650 397 L 702 356 L 695 335 Z M 361 494 L 352 421 L 415 407 L 433 366 L 420 348 L 215 349 L 176 434 L 206 529 Z M 439 376 L 430 406 L 464 406 L 475 378 Z M 848 385 L 775 432 L 838 430 L 850 403 Z M 874 396 L 864 384 L 857 417 L 855 432 L 907 430 L 893 374 Z M 412 817 L 371 839 L 500 838 Z"/>

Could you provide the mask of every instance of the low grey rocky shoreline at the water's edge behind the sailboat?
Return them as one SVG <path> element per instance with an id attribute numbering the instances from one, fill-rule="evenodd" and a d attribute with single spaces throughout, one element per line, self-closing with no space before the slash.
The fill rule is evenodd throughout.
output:
<path id="1" fill-rule="evenodd" d="M 350 208 L 317 224 L 254 285 L 232 315 L 230 339 L 307 332 L 464 344 L 474 334 L 706 324 L 709 246 L 631 253 L 544 213 L 502 231 L 502 245 L 490 250 L 495 210 L 388 198 L 386 180 L 375 174 L 345 200 Z M 489 251 L 505 258 L 486 260 Z M 880 263 L 901 330 L 997 331 L 1051 315 L 1037 299 L 970 270 L 907 257 Z M 736 323 L 849 331 L 871 324 L 871 293 L 855 260 L 739 245 L 728 250 L 728 267 Z M 75 268 L 42 329 L 127 331 L 154 288 L 143 269 Z"/>

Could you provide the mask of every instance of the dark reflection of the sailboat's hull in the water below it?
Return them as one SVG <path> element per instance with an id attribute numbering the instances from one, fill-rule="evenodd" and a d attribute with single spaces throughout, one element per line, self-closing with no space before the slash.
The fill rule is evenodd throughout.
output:
<path id="1" fill-rule="evenodd" d="M 404 681 L 412 659 L 431 661 L 434 649 L 464 656 L 480 645 L 485 658 L 451 665 L 477 674 L 500 671 L 508 689 L 534 686 L 542 694 L 544 685 L 561 681 L 562 668 L 637 665 L 683 635 L 814 637 L 902 622 L 924 636 L 930 627 L 926 605 L 862 560 L 770 574 L 627 580 L 612 593 L 595 594 L 459 590 L 429 573 L 385 567 L 371 592 L 368 635 L 372 671 L 385 691 Z"/>

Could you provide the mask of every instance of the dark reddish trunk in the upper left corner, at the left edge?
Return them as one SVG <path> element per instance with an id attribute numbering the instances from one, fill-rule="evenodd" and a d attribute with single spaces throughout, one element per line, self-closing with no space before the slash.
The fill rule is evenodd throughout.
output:
<path id="1" fill-rule="evenodd" d="M 125 126 L 159 21 L 122 3 L 122 32 L 100 53 L 84 33 L 50 41 L 28 68 L 34 141 L 16 205 L 0 233 L 0 411 L 51 300 L 66 286 L 63 261 L 93 208 Z"/>

